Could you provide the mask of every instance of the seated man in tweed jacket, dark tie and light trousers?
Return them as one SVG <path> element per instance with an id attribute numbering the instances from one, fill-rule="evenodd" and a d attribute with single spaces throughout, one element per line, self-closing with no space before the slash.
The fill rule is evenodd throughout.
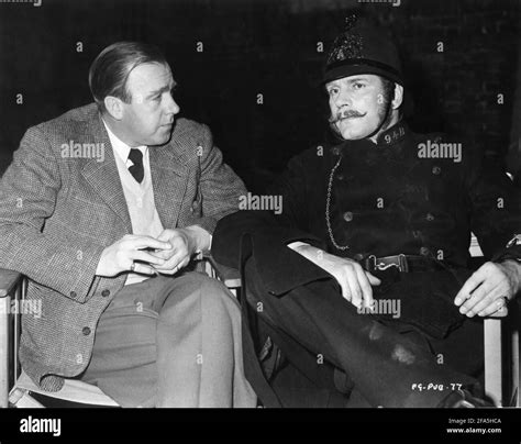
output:
<path id="1" fill-rule="evenodd" d="M 123 407 L 255 407 L 239 307 L 187 268 L 243 182 L 206 125 L 175 119 L 157 48 L 107 47 L 89 85 L 96 103 L 29 129 L 0 182 L 0 266 L 42 301 L 23 317 L 24 370 Z"/>

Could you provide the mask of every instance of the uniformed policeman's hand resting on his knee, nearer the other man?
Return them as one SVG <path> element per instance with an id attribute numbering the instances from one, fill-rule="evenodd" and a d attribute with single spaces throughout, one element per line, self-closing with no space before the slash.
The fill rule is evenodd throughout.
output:
<path id="1" fill-rule="evenodd" d="M 364 270 L 356 260 L 334 256 L 302 242 L 295 242 L 288 247 L 332 275 L 342 288 L 342 296 L 353 306 L 356 308 L 372 307 L 373 289 L 370 286 L 378 286 L 381 282 L 377 277 Z"/>

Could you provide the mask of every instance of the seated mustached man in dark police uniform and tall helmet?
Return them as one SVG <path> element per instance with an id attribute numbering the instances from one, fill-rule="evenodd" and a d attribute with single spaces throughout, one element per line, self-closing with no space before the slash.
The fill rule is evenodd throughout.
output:
<path id="1" fill-rule="evenodd" d="M 273 186 L 282 214 L 226 217 L 212 252 L 236 266 L 248 233 L 247 295 L 274 337 L 342 369 L 367 404 L 483 406 L 483 318 L 520 289 L 519 195 L 473 146 L 409 129 L 381 30 L 348 20 L 323 80 L 332 131 Z M 475 273 L 472 232 L 489 260 Z"/>

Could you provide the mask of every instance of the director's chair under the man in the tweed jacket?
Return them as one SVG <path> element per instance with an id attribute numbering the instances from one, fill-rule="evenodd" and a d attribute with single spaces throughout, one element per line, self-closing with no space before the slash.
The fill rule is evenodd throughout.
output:
<path id="1" fill-rule="evenodd" d="M 219 267 L 219 270 L 215 268 Z M 210 277 L 220 279 L 236 296 L 241 286 L 239 273 L 218 265 L 211 256 L 203 257 L 197 269 Z M 25 297 L 27 279 L 20 273 L 0 268 L 0 408 L 43 408 L 40 399 L 51 399 L 48 404 L 74 402 L 91 407 L 119 407 L 98 387 L 76 379 L 65 379 L 64 387 L 56 392 L 38 388 L 23 371 L 18 359 L 19 338 L 21 333 L 21 314 L 13 313 L 11 307 L 20 307 Z"/>

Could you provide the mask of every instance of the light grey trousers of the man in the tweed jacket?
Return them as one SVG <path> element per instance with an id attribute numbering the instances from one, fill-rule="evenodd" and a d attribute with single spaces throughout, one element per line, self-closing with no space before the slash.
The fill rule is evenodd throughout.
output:
<path id="1" fill-rule="evenodd" d="M 244 376 L 241 312 L 200 273 L 123 287 L 102 313 L 81 380 L 122 407 L 256 407 Z"/>

